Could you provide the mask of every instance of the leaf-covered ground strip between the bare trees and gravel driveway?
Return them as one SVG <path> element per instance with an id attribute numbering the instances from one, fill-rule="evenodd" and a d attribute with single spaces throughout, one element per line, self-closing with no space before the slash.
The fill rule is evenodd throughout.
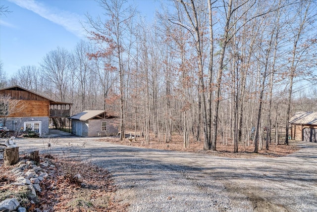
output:
<path id="1" fill-rule="evenodd" d="M 296 147 L 295 142 L 290 142 L 289 145 L 283 145 L 282 142 L 279 145 L 275 145 L 274 143 L 269 144 L 269 149 L 265 150 L 265 147 L 262 149 L 259 147 L 259 153 L 253 153 L 254 145 L 252 142 L 250 144 L 239 144 L 238 145 L 238 153 L 234 153 L 234 145 L 231 140 L 228 142 L 218 142 L 217 143 L 217 151 L 211 150 L 203 150 L 204 143 L 200 142 L 191 142 L 188 148 L 184 148 L 184 144 L 182 142 L 181 135 L 173 135 L 172 141 L 169 143 L 165 143 L 164 141 L 160 141 L 159 138 L 151 137 L 150 144 L 146 144 L 145 139 L 142 137 L 138 137 L 136 140 L 128 140 L 125 138 L 123 141 L 120 141 L 118 138 L 104 138 L 99 139 L 100 142 L 110 142 L 122 145 L 128 145 L 133 147 L 143 147 L 149 149 L 159 149 L 159 150 L 170 150 L 170 151 L 180 151 L 180 152 L 191 152 L 191 153 L 203 153 L 213 156 L 219 157 L 228 157 L 228 158 L 255 158 L 259 155 L 265 157 L 281 157 L 292 154 L 299 150 Z"/>

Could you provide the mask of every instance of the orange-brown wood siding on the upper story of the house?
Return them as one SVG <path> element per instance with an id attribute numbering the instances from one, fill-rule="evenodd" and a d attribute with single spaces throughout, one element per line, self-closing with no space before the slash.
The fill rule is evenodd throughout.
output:
<path id="1" fill-rule="evenodd" d="M 22 100 L 19 104 L 18 112 L 9 115 L 8 117 L 49 117 L 50 115 L 50 102 L 35 101 L 35 100 Z"/>

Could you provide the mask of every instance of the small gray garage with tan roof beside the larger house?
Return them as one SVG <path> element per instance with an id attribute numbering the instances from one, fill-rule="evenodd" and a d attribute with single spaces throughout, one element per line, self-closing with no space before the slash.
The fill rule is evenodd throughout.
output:
<path id="1" fill-rule="evenodd" d="M 69 117 L 72 133 L 83 137 L 117 135 L 117 117 L 107 115 L 106 110 L 85 110 Z"/>

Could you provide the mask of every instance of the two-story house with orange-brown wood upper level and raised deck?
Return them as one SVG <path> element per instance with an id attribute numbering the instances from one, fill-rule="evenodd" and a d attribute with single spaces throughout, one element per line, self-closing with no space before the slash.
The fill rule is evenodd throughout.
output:
<path id="1" fill-rule="evenodd" d="M 15 101 L 18 104 L 14 106 L 14 110 L 11 110 L 13 112 L 0 110 L 2 125 L 9 130 L 31 130 L 40 135 L 49 134 L 50 119 L 55 128 L 64 128 L 72 106 L 71 103 L 57 102 L 19 86 L 0 89 L 0 96 L 2 99 L 10 97 L 12 100 L 0 103 L 2 106 L 18 100 Z"/>

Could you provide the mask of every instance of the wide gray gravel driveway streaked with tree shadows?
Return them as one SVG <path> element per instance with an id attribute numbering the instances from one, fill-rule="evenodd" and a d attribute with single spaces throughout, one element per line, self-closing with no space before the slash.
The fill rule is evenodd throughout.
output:
<path id="1" fill-rule="evenodd" d="M 46 141 L 17 143 L 44 151 Z M 232 159 L 68 137 L 55 151 L 108 169 L 130 212 L 317 212 L 317 144 L 299 146 L 287 157 Z"/>

